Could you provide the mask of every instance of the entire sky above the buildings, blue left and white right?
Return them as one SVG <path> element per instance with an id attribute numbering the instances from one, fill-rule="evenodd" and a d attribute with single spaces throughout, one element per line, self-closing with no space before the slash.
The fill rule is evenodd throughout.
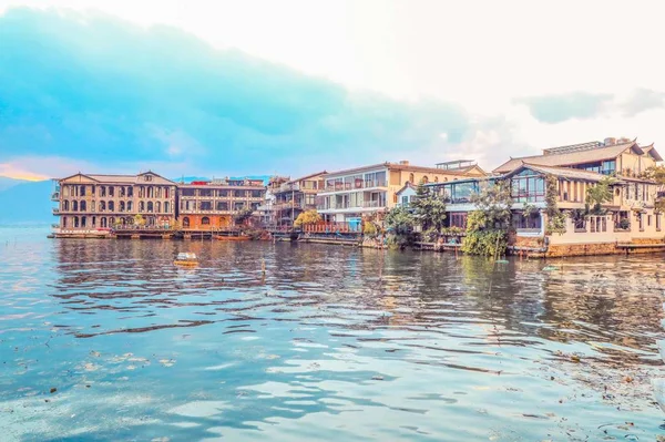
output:
<path id="1" fill-rule="evenodd" d="M 0 175 L 665 143 L 657 1 L 0 0 Z"/>

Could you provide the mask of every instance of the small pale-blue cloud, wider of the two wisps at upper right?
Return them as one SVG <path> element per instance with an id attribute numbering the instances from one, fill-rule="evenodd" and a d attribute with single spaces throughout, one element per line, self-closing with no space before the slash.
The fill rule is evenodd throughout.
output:
<path id="1" fill-rule="evenodd" d="M 571 92 L 555 95 L 540 95 L 515 99 L 524 104 L 531 114 L 542 123 L 561 123 L 573 119 L 594 119 L 606 112 L 612 94 Z"/>

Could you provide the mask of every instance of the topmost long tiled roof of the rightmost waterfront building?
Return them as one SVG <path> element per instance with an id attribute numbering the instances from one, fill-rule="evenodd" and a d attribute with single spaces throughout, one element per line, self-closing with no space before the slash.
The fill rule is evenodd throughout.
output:
<path id="1" fill-rule="evenodd" d="M 643 153 L 640 146 L 634 143 L 615 144 L 606 147 L 596 147 L 579 152 L 548 154 L 548 155 L 534 155 L 523 156 L 519 158 L 511 158 L 494 169 L 498 173 L 507 173 L 520 167 L 523 162 L 530 164 L 539 164 L 542 166 L 570 166 L 581 163 L 591 163 L 603 160 L 613 160 L 621 155 L 628 148 L 635 148 L 638 153 Z"/>

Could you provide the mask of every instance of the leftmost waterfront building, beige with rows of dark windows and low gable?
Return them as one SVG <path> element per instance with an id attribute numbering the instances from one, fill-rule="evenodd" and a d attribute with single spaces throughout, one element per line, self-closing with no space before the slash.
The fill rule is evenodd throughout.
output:
<path id="1" fill-rule="evenodd" d="M 175 222 L 174 182 L 153 172 L 139 175 L 78 173 L 58 179 L 52 199 L 57 232 L 86 232 L 141 223 L 168 227 Z M 141 217 L 137 217 L 141 215 Z"/>

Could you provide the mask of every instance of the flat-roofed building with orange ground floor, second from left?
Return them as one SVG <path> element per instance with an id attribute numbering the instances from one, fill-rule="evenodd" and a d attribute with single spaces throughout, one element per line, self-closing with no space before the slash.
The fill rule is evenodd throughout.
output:
<path id="1" fill-rule="evenodd" d="M 255 212 L 266 187 L 262 179 L 214 179 L 177 185 L 177 220 L 183 230 L 233 227 L 235 217 Z"/>

